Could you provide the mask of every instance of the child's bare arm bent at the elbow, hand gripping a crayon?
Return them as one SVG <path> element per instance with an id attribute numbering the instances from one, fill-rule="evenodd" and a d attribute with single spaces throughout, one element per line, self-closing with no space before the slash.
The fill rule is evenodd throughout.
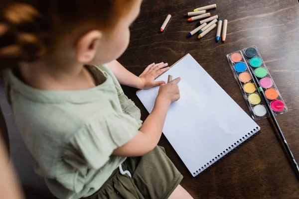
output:
<path id="1" fill-rule="evenodd" d="M 114 150 L 113 155 L 118 156 L 142 156 L 149 153 L 158 143 L 166 114 L 171 102 L 180 98 L 177 78 L 169 84 L 160 86 L 153 110 L 145 120 L 137 135 L 128 143 Z"/>

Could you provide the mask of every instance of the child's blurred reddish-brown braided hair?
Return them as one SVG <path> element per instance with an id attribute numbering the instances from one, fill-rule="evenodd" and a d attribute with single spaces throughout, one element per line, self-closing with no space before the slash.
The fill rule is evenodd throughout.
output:
<path id="1" fill-rule="evenodd" d="M 0 8 L 0 70 L 34 62 L 73 29 L 113 27 L 134 0 L 5 0 Z"/>

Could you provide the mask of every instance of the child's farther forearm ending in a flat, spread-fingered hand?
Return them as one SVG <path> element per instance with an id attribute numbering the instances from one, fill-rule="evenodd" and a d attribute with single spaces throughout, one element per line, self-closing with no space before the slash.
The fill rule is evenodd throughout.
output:
<path id="1" fill-rule="evenodd" d="M 166 67 L 168 66 L 167 63 L 152 63 L 139 77 L 137 77 L 116 60 L 108 63 L 107 66 L 113 72 L 120 84 L 137 89 L 149 89 L 151 87 L 165 84 L 163 81 L 154 82 L 154 79 L 169 70 L 169 67 Z"/>

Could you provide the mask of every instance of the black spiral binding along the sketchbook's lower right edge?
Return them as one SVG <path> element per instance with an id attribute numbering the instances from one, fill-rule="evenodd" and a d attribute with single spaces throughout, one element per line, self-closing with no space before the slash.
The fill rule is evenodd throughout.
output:
<path id="1" fill-rule="evenodd" d="M 248 139 L 250 139 L 252 136 L 258 134 L 260 132 L 260 127 L 254 128 L 249 133 L 245 134 L 242 138 L 237 140 L 235 143 L 233 143 L 231 146 L 226 148 L 222 153 L 215 156 L 215 158 L 211 159 L 210 162 L 207 162 L 205 165 L 203 165 L 201 168 L 199 168 L 196 172 L 193 173 L 193 177 L 201 174 L 204 170 L 209 168 L 212 164 L 218 162 L 221 158 L 223 158 L 225 155 L 228 155 L 230 152 L 232 152 L 234 149 L 236 149 L 238 146 L 246 142 Z"/>

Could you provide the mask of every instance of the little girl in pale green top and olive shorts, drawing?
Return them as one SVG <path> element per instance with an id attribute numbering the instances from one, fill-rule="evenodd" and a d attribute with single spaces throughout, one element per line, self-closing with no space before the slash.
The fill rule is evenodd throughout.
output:
<path id="1" fill-rule="evenodd" d="M 18 130 L 58 199 L 188 199 L 182 175 L 157 147 L 179 78 L 135 76 L 116 61 L 142 0 L 5 0 L 0 68 Z M 120 84 L 160 86 L 149 117 Z"/>

